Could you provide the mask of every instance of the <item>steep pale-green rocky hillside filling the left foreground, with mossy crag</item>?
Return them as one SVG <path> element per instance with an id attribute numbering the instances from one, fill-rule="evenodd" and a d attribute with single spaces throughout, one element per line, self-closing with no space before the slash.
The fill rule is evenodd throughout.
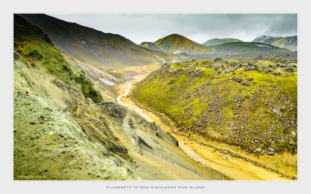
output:
<path id="1" fill-rule="evenodd" d="M 115 131 L 123 126 L 114 127 L 128 125 L 130 118 L 123 108 L 102 101 L 90 78 L 69 64 L 47 35 L 14 15 L 15 180 L 30 175 L 34 180 L 139 179 L 130 166 L 107 157 L 133 161 Z M 115 114 L 118 122 L 110 119 Z"/>

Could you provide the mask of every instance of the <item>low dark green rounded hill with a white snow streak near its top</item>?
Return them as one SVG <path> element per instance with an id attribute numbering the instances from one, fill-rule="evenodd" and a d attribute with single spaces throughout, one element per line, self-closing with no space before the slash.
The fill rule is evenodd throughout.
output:
<path id="1" fill-rule="evenodd" d="M 288 49 L 258 42 L 229 42 L 220 45 L 211 45 L 209 47 L 218 54 L 292 52 Z"/>

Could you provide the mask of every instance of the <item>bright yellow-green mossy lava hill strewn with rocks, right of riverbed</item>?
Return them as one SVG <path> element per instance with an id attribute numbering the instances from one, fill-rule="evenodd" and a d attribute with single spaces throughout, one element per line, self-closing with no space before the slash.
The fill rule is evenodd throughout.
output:
<path id="1" fill-rule="evenodd" d="M 178 131 L 249 153 L 297 153 L 296 63 L 297 54 L 281 53 L 168 63 L 132 94 Z"/>

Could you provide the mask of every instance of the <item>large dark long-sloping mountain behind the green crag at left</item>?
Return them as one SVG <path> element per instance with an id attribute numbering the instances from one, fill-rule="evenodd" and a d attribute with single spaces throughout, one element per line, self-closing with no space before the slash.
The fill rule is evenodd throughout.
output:
<path id="1" fill-rule="evenodd" d="M 118 34 L 104 33 L 45 14 L 19 15 L 47 34 L 59 50 L 100 68 L 179 61 L 180 55 L 141 47 Z"/>

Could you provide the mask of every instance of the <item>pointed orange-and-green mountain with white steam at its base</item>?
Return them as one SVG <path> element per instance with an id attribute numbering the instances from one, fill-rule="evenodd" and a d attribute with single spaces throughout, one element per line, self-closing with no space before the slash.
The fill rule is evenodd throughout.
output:
<path id="1" fill-rule="evenodd" d="M 205 45 L 201 45 L 194 42 L 182 35 L 171 34 L 160 38 L 153 42 L 154 46 L 149 44 L 144 44 L 143 46 L 149 48 L 156 48 L 158 50 L 164 50 L 169 53 L 185 53 L 189 55 L 193 54 L 213 54 L 214 51 Z M 151 45 L 151 46 L 150 46 Z"/>

